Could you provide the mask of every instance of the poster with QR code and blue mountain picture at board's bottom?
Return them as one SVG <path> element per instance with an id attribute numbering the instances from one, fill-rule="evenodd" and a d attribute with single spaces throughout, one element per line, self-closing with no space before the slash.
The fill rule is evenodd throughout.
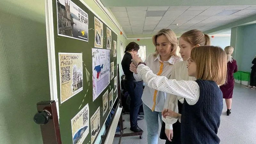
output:
<path id="1" fill-rule="evenodd" d="M 82 144 L 89 133 L 89 106 L 86 104 L 71 119 L 73 144 Z"/>

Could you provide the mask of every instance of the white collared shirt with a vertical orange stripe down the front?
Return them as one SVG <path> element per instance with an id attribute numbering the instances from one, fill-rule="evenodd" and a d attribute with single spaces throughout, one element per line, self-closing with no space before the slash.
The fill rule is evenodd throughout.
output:
<path id="1" fill-rule="evenodd" d="M 152 70 L 151 72 L 153 74 L 159 74 L 159 72 L 161 72 L 160 76 L 164 76 L 167 78 L 170 78 L 171 76 L 173 65 L 176 62 L 182 61 L 182 59 L 177 56 L 172 56 L 168 61 L 162 61 L 159 54 L 157 55 L 157 57 L 155 57 L 153 54 L 154 53 L 148 56 L 148 58 L 145 60 L 145 63 Z M 162 67 L 161 64 L 163 64 Z M 138 74 L 133 73 L 133 76 L 138 81 L 142 80 Z M 155 93 L 155 89 L 152 89 L 152 87 L 148 87 L 146 85 L 141 99 L 143 103 L 151 110 L 161 112 L 164 108 L 166 93 L 161 91 L 157 91 Z"/>

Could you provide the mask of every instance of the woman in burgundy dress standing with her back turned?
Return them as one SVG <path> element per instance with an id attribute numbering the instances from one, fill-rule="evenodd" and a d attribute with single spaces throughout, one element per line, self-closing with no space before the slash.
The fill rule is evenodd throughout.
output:
<path id="1" fill-rule="evenodd" d="M 232 59 L 231 54 L 234 51 L 232 46 L 226 46 L 224 51 L 227 53 L 227 83 L 220 86 L 220 90 L 223 93 L 223 99 L 226 101 L 227 105 L 227 116 L 231 114 L 231 103 L 232 103 L 232 96 L 233 96 L 233 89 L 234 89 L 234 76 L 233 73 L 237 71 L 237 64 L 236 60 Z"/>

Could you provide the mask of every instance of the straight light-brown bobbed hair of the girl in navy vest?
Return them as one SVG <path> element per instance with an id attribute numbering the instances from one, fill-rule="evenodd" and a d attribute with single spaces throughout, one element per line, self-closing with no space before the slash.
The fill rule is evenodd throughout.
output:
<path id="1" fill-rule="evenodd" d="M 191 50 L 191 60 L 196 62 L 196 78 L 212 80 L 218 85 L 226 83 L 227 54 L 218 46 L 199 46 Z"/>

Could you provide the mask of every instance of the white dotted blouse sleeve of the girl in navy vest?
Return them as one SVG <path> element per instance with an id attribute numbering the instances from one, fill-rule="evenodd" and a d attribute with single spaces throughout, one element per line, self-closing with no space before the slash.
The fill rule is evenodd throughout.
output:
<path id="1" fill-rule="evenodd" d="M 138 66 L 137 72 L 143 82 L 152 89 L 185 98 L 189 105 L 196 104 L 199 99 L 199 85 L 195 81 L 177 81 L 165 76 L 157 76 L 143 64 Z"/>

